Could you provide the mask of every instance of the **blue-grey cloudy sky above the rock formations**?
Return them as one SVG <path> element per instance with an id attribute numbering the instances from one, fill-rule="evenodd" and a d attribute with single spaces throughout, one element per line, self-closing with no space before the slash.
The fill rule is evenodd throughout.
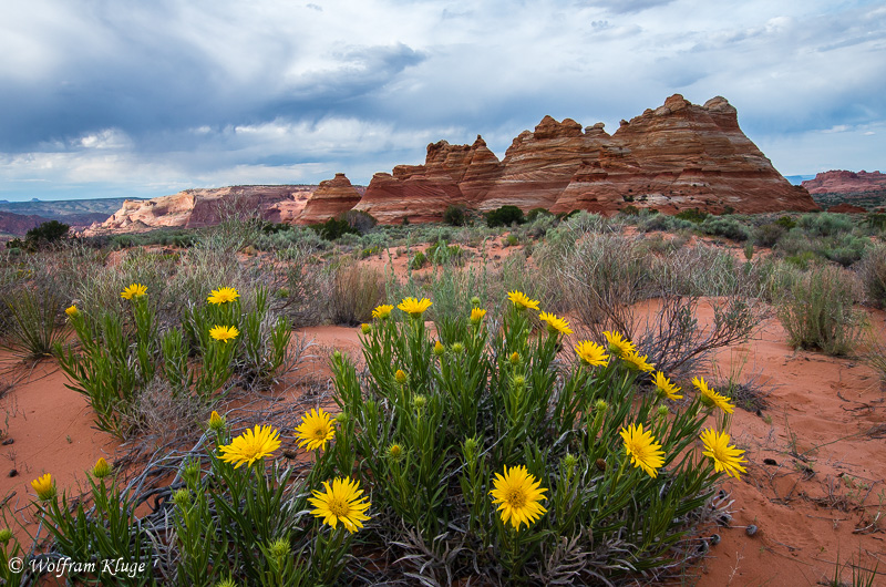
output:
<path id="1" fill-rule="evenodd" d="M 725 96 L 784 175 L 886 172 L 886 6 L 2 0 L 0 198 L 312 184 L 545 114 Z"/>

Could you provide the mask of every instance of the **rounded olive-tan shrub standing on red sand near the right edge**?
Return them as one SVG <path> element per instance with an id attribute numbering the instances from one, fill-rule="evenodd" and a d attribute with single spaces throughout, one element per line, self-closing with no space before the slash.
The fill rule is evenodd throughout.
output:
<path id="1" fill-rule="evenodd" d="M 853 308 L 853 298 L 851 277 L 843 269 L 811 268 L 777 305 L 789 344 L 827 354 L 852 351 L 864 321 Z"/>

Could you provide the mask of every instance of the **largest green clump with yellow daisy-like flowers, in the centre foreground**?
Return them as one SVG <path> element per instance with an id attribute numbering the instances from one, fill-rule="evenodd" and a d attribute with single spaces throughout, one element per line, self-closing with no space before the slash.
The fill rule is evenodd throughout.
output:
<path id="1" fill-rule="evenodd" d="M 412 562 L 429 583 L 477 569 L 543 585 L 676 568 L 686 553 L 678 543 L 718 480 L 743 472 L 729 436 L 701 432 L 708 395 L 673 403 L 680 388 L 661 371 L 641 393 L 655 364 L 632 342 L 607 331 L 573 354 L 563 349 L 569 323 L 544 311 L 539 328 L 526 310 L 540 302 L 521 291 L 508 294 L 501 328 L 478 301 L 461 321 L 441 318 L 433 339 L 423 321 L 374 312 L 361 337 L 368 377 L 333 354 L 347 418 L 311 476 L 336 477 L 340 491 L 334 509 L 334 481 L 313 490 L 326 502 L 312 513 L 340 521 L 349 512 L 341 483 L 359 481 L 372 495 L 364 539 L 396 545 L 392 560 Z M 419 303 L 399 307 L 421 316 L 431 301 Z M 559 568 L 550 553 L 564 544 L 585 555 Z M 432 555 L 444 552 L 461 553 L 445 570 Z"/>

